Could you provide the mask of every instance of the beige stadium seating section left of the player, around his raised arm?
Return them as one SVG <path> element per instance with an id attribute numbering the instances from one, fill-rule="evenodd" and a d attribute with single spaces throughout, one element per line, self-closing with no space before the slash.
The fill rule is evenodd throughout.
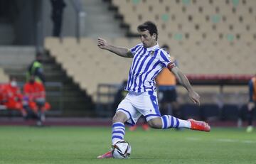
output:
<path id="1" fill-rule="evenodd" d="M 136 45 L 139 40 L 117 38 L 110 42 L 122 46 Z M 80 43 L 75 38 L 63 38 L 62 43 L 58 38 L 46 38 L 45 45 L 67 74 L 92 96 L 98 83 L 119 84 L 126 79 L 132 61 L 100 50 L 92 38 L 82 38 Z"/>

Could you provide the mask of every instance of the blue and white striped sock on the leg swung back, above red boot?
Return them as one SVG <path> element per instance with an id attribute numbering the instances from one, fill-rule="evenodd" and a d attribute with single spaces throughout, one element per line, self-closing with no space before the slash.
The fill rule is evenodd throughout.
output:
<path id="1" fill-rule="evenodd" d="M 162 129 L 170 129 L 170 128 L 191 128 L 190 121 L 186 121 L 183 119 L 177 119 L 171 115 L 161 116 L 162 121 Z"/>

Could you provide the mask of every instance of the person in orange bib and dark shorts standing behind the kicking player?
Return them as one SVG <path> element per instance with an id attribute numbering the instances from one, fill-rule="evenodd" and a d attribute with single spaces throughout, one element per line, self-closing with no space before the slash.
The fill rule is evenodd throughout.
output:
<path id="1" fill-rule="evenodd" d="M 162 48 L 167 53 L 170 52 L 169 45 L 163 45 Z M 178 65 L 173 56 L 171 56 L 170 60 L 176 66 Z M 164 67 L 156 77 L 156 85 L 159 91 L 161 114 L 171 114 L 172 116 L 179 117 L 175 75 L 168 68 Z"/>

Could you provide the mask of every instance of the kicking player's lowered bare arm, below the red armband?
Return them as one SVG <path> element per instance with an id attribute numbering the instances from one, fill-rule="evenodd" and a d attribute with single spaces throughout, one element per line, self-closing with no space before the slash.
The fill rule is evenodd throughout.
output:
<path id="1" fill-rule="evenodd" d="M 174 72 L 174 75 L 177 77 L 178 82 L 188 90 L 188 97 L 191 99 L 191 101 L 195 104 L 200 105 L 200 96 L 193 90 L 186 75 L 184 75 L 183 72 L 181 72 L 181 70 L 179 70 L 176 66 L 171 68 L 171 72 Z"/>

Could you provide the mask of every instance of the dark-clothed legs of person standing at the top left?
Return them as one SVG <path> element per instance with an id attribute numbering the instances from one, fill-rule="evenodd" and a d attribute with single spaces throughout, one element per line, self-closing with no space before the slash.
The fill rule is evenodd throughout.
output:
<path id="1" fill-rule="evenodd" d="M 52 5 L 51 19 L 53 21 L 53 36 L 60 37 L 63 23 L 63 10 L 66 4 L 63 0 L 50 0 L 50 3 Z"/>

